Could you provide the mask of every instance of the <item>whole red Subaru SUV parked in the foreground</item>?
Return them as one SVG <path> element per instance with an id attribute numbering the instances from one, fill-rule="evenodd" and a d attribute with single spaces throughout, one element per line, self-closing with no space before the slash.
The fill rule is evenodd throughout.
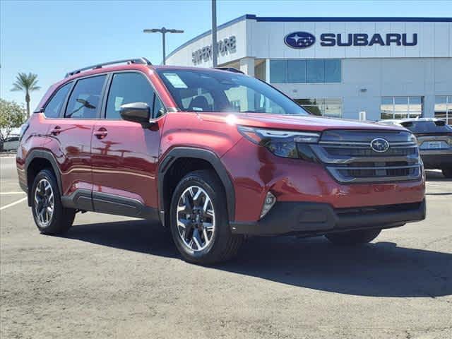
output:
<path id="1" fill-rule="evenodd" d="M 251 235 L 359 244 L 425 218 L 410 131 L 309 115 L 235 69 L 142 58 L 70 72 L 23 126 L 17 168 L 40 232 L 79 211 L 160 220 L 193 263 Z"/>

